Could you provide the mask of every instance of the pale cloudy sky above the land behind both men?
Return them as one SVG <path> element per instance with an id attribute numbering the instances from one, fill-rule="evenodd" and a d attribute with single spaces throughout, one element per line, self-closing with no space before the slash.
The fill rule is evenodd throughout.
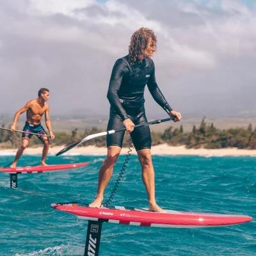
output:
<path id="1" fill-rule="evenodd" d="M 0 114 L 40 88 L 52 115 L 106 115 L 109 77 L 141 27 L 156 79 L 185 116 L 256 116 L 256 1 L 10 0 L 0 3 Z M 145 89 L 148 115 L 166 113 Z"/>

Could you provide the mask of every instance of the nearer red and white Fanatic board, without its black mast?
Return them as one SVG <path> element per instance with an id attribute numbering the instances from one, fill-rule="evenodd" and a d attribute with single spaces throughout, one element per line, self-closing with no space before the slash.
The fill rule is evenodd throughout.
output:
<path id="1" fill-rule="evenodd" d="M 105 220 L 109 223 L 166 227 L 166 228 L 207 228 L 236 225 L 252 220 L 250 216 L 211 214 L 202 212 L 170 211 L 166 213 L 150 212 L 146 208 L 134 207 L 100 207 L 90 208 L 72 204 L 51 204 L 51 207 L 59 211 L 76 214 L 78 218 L 85 220 Z"/>

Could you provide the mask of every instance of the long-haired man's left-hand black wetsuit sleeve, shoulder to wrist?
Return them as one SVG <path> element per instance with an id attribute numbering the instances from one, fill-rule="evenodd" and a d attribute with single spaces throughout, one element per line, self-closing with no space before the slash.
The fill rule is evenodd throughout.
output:
<path id="1" fill-rule="evenodd" d="M 116 113 L 118 113 L 123 120 L 130 118 L 130 116 L 125 112 L 125 109 L 118 97 L 118 91 L 126 72 L 129 72 L 129 68 L 125 61 L 117 60 L 111 73 L 107 95 L 111 107 L 115 109 Z"/>

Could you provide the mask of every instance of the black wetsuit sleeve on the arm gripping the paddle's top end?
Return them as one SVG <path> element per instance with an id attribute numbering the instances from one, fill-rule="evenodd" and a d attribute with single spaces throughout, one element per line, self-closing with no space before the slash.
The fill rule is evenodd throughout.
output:
<path id="1" fill-rule="evenodd" d="M 152 63 L 152 65 L 153 65 L 153 72 L 150 75 L 150 78 L 148 79 L 148 83 L 147 83 L 148 90 L 151 93 L 153 99 L 156 100 L 157 104 L 159 104 L 159 106 L 161 106 L 167 113 L 170 113 L 170 111 L 172 111 L 172 108 L 168 104 L 167 100 L 164 98 L 163 93 L 161 92 L 161 90 L 159 89 L 156 83 L 154 63 Z"/>

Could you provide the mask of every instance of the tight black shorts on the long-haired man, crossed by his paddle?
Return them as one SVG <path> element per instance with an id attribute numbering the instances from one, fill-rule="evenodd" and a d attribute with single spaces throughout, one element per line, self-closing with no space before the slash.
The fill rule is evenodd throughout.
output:
<path id="1" fill-rule="evenodd" d="M 135 125 L 148 122 L 144 106 L 141 108 L 125 108 L 125 111 L 131 117 Z M 123 121 L 121 116 L 119 116 L 113 108 L 110 108 L 108 131 L 124 128 Z M 107 136 L 107 147 L 118 146 L 122 148 L 124 134 L 125 131 L 109 134 Z M 151 134 L 148 126 L 136 128 L 130 134 L 136 151 L 151 148 Z"/>

